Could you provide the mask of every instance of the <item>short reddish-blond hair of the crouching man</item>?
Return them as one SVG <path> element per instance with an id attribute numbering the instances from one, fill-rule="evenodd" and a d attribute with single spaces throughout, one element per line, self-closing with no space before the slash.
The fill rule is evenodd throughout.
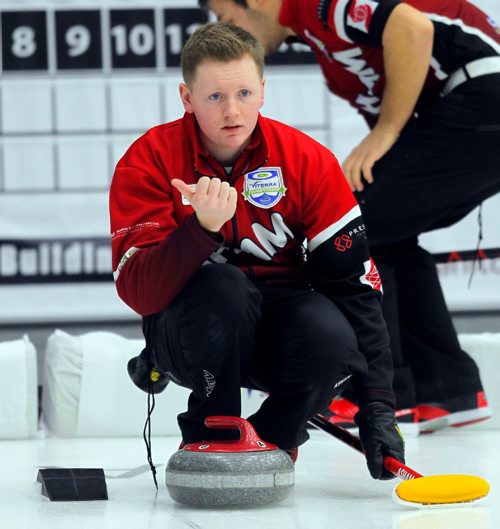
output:
<path id="1" fill-rule="evenodd" d="M 181 53 L 184 82 L 190 86 L 198 66 L 205 60 L 229 62 L 250 55 L 260 76 L 264 74 L 264 48 L 248 31 L 225 22 L 200 26 L 187 40 Z"/>

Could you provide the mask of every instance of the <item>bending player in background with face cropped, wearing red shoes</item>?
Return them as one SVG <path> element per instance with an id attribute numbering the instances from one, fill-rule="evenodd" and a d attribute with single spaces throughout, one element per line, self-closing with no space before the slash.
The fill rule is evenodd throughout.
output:
<path id="1" fill-rule="evenodd" d="M 272 53 L 298 39 L 370 132 L 343 163 L 384 285 L 399 421 L 488 418 L 419 234 L 500 190 L 500 29 L 465 0 L 200 0 Z M 330 406 L 348 424 L 347 399 Z"/>

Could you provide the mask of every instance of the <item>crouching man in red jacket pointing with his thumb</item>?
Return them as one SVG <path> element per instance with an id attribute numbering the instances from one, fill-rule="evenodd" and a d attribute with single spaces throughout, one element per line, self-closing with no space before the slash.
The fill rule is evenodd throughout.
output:
<path id="1" fill-rule="evenodd" d="M 404 444 L 380 279 L 364 233 L 335 249 L 363 222 L 335 157 L 259 114 L 264 50 L 241 28 L 202 26 L 181 66 L 184 117 L 134 142 L 111 184 L 116 287 L 146 338 L 132 379 L 192 390 L 185 443 L 227 436 L 204 420 L 239 416 L 241 387 L 267 391 L 248 420 L 295 459 L 352 378 L 370 473 L 391 478 L 383 455 L 402 461 Z"/>

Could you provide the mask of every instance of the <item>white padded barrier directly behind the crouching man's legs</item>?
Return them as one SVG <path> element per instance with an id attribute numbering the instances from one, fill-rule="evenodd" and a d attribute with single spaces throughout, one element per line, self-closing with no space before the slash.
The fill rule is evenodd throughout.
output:
<path id="1" fill-rule="evenodd" d="M 127 362 L 143 340 L 110 332 L 72 336 L 56 330 L 45 353 L 42 414 L 44 427 L 59 437 L 140 436 L 147 395 L 127 374 Z M 178 435 L 177 414 L 186 409 L 189 390 L 170 383 L 156 395 L 153 435 Z M 242 390 L 242 414 L 260 406 L 264 395 Z"/>

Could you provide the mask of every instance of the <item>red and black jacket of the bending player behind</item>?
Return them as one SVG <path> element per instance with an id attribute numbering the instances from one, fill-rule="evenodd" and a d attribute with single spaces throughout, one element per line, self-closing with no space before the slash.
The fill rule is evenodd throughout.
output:
<path id="1" fill-rule="evenodd" d="M 330 90 L 373 126 L 385 74 L 382 33 L 399 0 L 283 0 L 280 23 L 311 46 Z M 434 25 L 432 60 L 417 111 L 467 63 L 500 55 L 500 26 L 466 0 L 405 0 Z"/>

